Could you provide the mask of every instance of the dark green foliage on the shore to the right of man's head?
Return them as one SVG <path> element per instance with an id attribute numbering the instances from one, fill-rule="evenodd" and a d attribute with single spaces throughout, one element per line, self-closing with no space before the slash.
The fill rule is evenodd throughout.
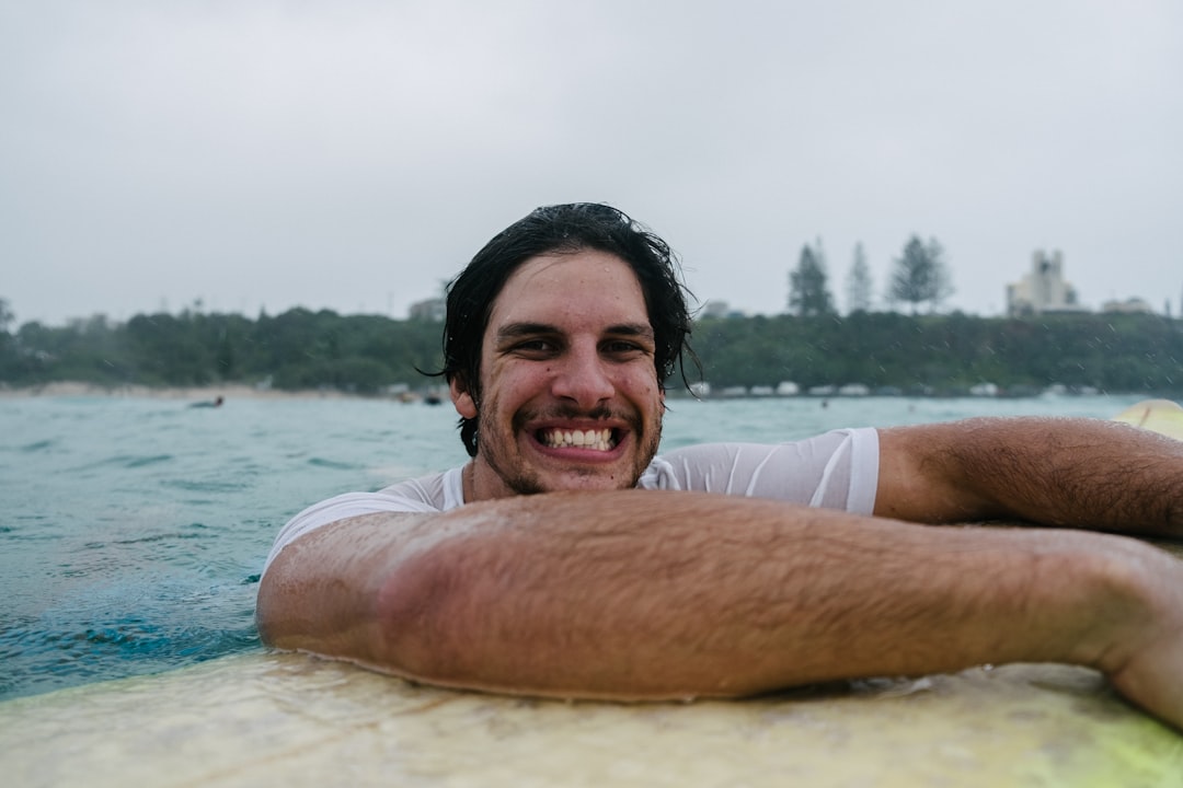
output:
<path id="1" fill-rule="evenodd" d="M 968 393 L 980 383 L 1008 393 L 1053 384 L 1183 392 L 1183 321 L 1146 314 L 711 319 L 696 326 L 693 341 L 716 390 L 793 380 L 803 389 L 861 383 L 936 395 Z"/>

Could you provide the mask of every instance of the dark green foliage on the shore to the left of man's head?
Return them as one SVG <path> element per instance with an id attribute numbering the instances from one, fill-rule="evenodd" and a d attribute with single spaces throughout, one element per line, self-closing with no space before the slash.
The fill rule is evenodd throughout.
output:
<path id="1" fill-rule="evenodd" d="M 256 321 L 238 314 L 104 318 L 64 328 L 30 323 L 0 344 L 0 383 L 202 386 L 270 382 L 279 389 L 375 393 L 425 382 L 440 365 L 440 324 L 290 310 Z M 0 339 L 7 334 L 0 334 Z"/>

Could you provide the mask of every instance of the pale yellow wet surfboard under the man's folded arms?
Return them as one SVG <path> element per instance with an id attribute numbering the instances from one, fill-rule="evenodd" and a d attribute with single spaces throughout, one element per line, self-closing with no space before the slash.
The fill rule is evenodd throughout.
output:
<path id="1" fill-rule="evenodd" d="M 1164 403 L 1118 418 L 1183 428 Z M 1183 786 L 1183 735 L 1068 665 L 620 704 L 251 653 L 2 703 L 0 763 L 14 786 L 1165 788 Z"/>

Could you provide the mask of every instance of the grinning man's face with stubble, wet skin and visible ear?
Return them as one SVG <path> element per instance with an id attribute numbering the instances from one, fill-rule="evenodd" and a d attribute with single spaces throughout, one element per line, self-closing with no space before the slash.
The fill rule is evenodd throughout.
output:
<path id="1" fill-rule="evenodd" d="M 470 500 L 634 487 L 657 452 L 665 397 L 645 297 L 615 255 L 584 249 L 518 266 L 493 301 Z"/>

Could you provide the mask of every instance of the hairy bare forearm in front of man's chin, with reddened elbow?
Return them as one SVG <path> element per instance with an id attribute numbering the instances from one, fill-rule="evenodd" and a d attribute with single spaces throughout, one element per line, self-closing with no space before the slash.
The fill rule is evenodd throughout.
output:
<path id="1" fill-rule="evenodd" d="M 1183 564 L 1123 538 L 638 490 L 383 517 L 276 559 L 267 643 L 444 685 L 618 698 L 1069 662 L 1183 725 Z"/>

